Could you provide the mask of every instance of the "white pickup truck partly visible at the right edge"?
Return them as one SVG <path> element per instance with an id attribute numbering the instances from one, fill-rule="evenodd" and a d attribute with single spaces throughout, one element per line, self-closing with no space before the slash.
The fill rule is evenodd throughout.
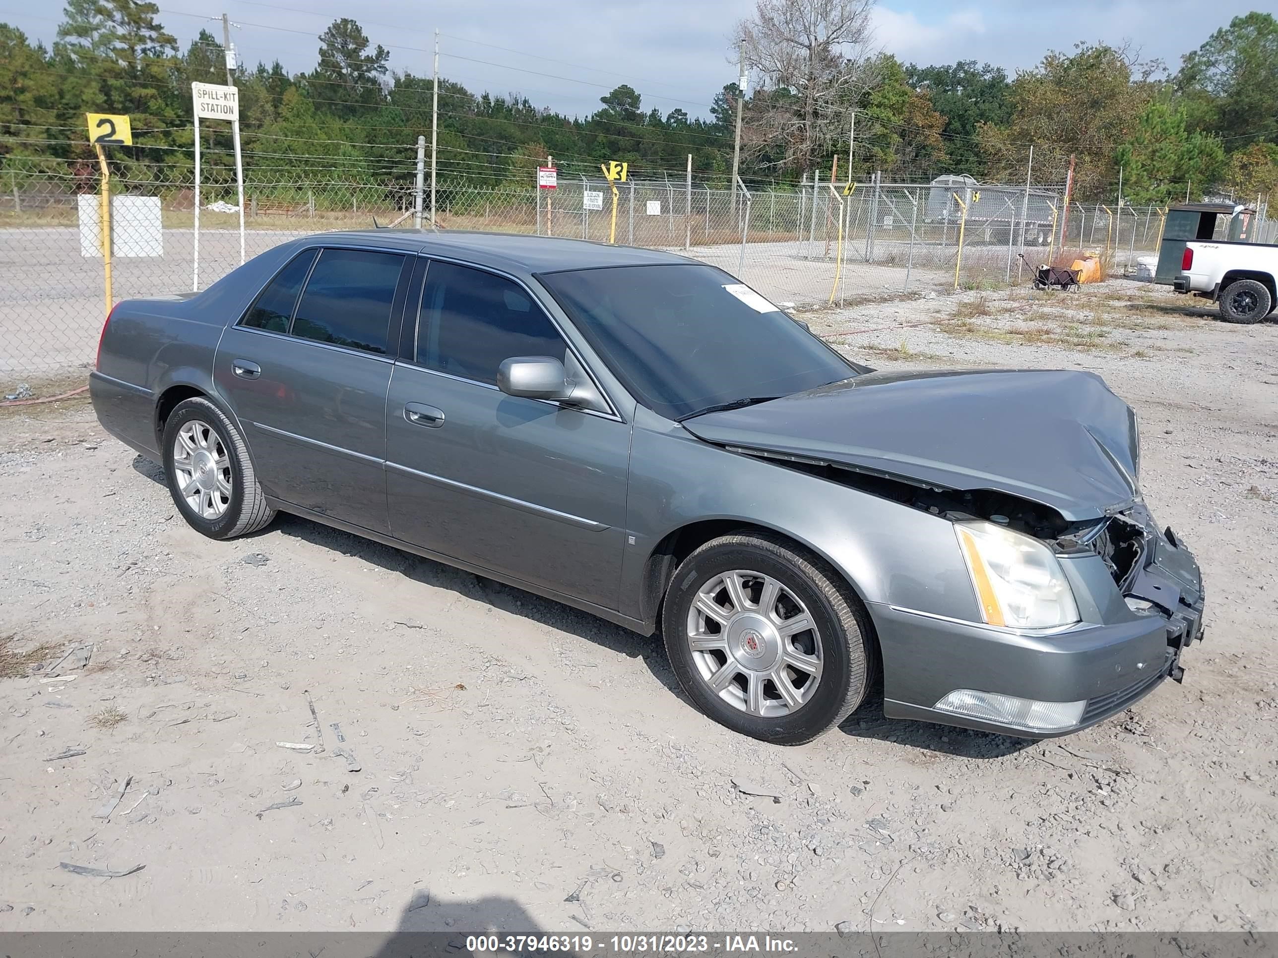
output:
<path id="1" fill-rule="evenodd" d="M 1227 322 L 1259 323 L 1278 305 L 1274 277 L 1278 277 L 1278 247 L 1190 240 L 1172 289 L 1219 303 Z"/>

